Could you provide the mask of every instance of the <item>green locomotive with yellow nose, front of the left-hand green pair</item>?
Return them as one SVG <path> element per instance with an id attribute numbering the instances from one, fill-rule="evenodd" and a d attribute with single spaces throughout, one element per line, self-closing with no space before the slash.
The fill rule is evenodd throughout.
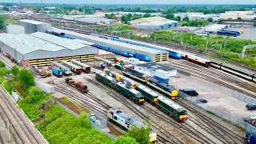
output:
<path id="1" fill-rule="evenodd" d="M 126 98 L 129 98 L 130 100 L 134 101 L 137 104 L 142 104 L 145 102 L 144 97 L 140 92 L 126 87 L 126 85 L 123 84 L 122 82 L 116 83 L 115 89 L 117 90 L 118 93 L 124 95 Z"/>

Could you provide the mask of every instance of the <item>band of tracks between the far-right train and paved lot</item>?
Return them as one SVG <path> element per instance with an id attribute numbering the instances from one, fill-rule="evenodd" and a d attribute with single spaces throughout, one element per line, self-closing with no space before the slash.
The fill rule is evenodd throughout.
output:
<path id="1" fill-rule="evenodd" d="M 215 70 L 215 69 L 210 70 L 209 68 L 204 68 L 202 66 L 194 67 L 191 65 L 195 65 L 195 64 L 190 62 L 186 62 L 186 64 L 167 63 L 166 65 L 178 68 L 180 70 L 185 70 L 187 72 L 190 72 L 190 74 L 194 77 L 216 83 L 220 86 L 225 86 L 227 88 L 230 88 L 231 90 L 236 90 L 242 94 L 246 94 L 252 98 L 256 98 L 256 95 L 253 94 L 256 92 L 256 89 L 253 88 L 254 86 L 250 86 L 250 85 L 247 86 L 248 84 L 245 84 L 245 82 L 239 82 L 238 79 L 234 79 L 231 76 L 228 76 L 227 74 L 223 74 L 222 72 L 219 72 L 218 70 Z M 250 92 L 246 90 L 249 90 Z"/>

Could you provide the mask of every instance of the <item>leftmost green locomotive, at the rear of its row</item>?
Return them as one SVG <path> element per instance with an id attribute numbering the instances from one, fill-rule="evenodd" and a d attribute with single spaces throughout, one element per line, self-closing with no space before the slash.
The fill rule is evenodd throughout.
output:
<path id="1" fill-rule="evenodd" d="M 102 72 L 97 72 L 95 77 L 99 82 L 102 82 L 104 85 L 110 86 L 111 88 L 114 88 L 114 85 L 117 83 L 114 78 L 103 74 Z"/>

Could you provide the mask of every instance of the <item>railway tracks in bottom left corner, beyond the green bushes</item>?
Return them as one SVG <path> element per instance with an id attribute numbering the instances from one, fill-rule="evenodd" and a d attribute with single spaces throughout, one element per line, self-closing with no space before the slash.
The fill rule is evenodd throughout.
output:
<path id="1" fill-rule="evenodd" d="M 10 133 L 13 135 L 15 142 L 24 144 L 43 144 L 46 143 L 42 135 L 34 128 L 31 122 L 22 114 L 18 106 L 10 99 L 6 92 L 0 87 L 0 107 L 2 110 L 1 117 L 5 122 L 10 122 Z"/>

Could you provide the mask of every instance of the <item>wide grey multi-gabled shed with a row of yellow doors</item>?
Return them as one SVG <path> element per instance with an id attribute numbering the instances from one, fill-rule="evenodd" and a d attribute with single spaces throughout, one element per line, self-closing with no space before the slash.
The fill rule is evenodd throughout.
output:
<path id="1" fill-rule="evenodd" d="M 48 38 L 48 39 L 47 39 Z M 37 32 L 34 34 L 0 34 L 2 54 L 20 66 L 50 66 L 52 61 L 94 61 L 98 49 L 67 38 Z"/>

